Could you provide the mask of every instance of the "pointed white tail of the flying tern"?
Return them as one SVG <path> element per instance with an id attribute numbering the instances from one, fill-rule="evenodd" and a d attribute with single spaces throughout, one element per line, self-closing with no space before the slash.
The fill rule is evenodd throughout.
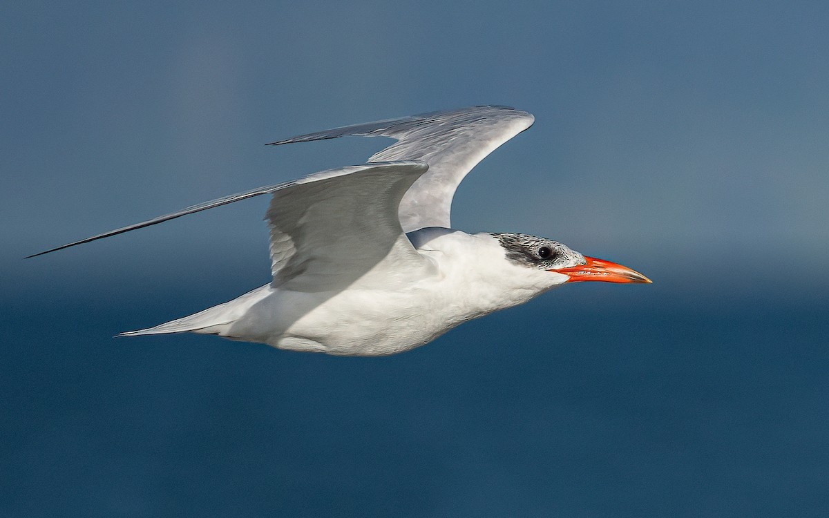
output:
<path id="1" fill-rule="evenodd" d="M 208 307 L 188 317 L 177 318 L 155 327 L 119 333 L 118 336 L 164 335 L 176 332 L 195 332 L 203 335 L 227 336 L 230 326 L 255 303 L 269 293 L 269 284 L 245 293 L 230 302 Z"/>

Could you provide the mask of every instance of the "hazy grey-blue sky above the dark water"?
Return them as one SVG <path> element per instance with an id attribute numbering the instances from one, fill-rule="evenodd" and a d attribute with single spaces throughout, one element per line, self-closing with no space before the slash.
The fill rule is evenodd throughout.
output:
<path id="1" fill-rule="evenodd" d="M 12 269 L 32 268 L 20 255 L 358 163 L 382 145 L 262 146 L 274 138 L 471 104 L 526 109 L 536 125 L 468 177 L 454 207 L 459 228 L 547 235 L 638 264 L 655 249 L 736 254 L 752 269 L 769 248 L 829 259 L 829 41 L 819 3 L 6 11 L 0 210 Z M 261 210 L 225 210 L 211 231 L 264 250 Z M 145 230 L 147 241 L 122 236 L 67 254 L 108 254 L 136 239 L 232 254 L 205 248 L 213 238 L 202 217 Z"/>

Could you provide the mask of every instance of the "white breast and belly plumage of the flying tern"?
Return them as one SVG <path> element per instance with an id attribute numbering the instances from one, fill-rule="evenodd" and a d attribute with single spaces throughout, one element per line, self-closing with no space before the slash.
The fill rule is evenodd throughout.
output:
<path id="1" fill-rule="evenodd" d="M 239 307 L 238 316 L 219 334 L 293 351 L 389 355 L 422 346 L 473 318 L 525 303 L 556 285 L 549 272 L 504 260 L 503 249 L 489 235 L 450 233 L 444 239 L 452 246 L 419 248 L 437 265 L 427 275 L 412 272 L 411 279 L 400 282 L 395 271 L 390 275 L 395 283 L 355 284 L 340 292 L 265 286 L 255 296 L 258 302 Z M 437 244 L 439 239 L 429 242 Z"/>

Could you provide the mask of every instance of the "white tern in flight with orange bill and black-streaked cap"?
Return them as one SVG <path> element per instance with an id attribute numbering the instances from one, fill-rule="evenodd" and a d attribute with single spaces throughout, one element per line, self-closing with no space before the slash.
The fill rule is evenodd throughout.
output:
<path id="1" fill-rule="evenodd" d="M 269 284 L 119 336 L 195 332 L 346 356 L 408 351 L 567 282 L 650 283 L 554 240 L 452 229 L 449 209 L 463 177 L 533 121 L 516 109 L 477 106 L 274 142 L 343 135 L 397 140 L 365 165 L 206 201 L 35 255 L 271 194 Z"/>

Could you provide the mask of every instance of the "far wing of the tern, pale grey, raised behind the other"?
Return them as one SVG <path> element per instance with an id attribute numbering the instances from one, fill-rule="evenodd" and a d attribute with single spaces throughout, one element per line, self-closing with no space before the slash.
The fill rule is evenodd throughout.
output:
<path id="1" fill-rule="evenodd" d="M 410 232 L 427 226 L 451 228 L 449 212 L 463 177 L 502 143 L 529 128 L 531 114 L 506 106 L 439 111 L 308 133 L 270 143 L 279 145 L 345 135 L 397 139 L 369 162 L 417 160 L 429 164 L 400 202 L 400 223 Z"/>

